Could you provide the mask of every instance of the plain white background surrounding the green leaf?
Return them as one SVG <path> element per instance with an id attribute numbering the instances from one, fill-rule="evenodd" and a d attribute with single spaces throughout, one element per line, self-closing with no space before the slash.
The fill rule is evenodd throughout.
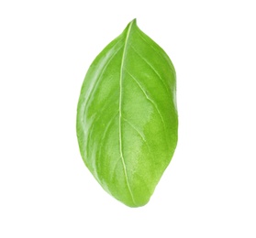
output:
<path id="1" fill-rule="evenodd" d="M 0 237 L 256 237 L 255 1 L 1 1 Z M 131 209 L 83 165 L 76 105 L 133 18 L 177 71 L 179 143 Z"/>

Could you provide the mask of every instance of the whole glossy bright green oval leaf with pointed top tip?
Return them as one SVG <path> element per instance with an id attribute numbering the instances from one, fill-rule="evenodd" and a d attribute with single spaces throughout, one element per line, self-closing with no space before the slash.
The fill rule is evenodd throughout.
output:
<path id="1" fill-rule="evenodd" d="M 177 144 L 173 63 L 136 19 L 96 57 L 77 108 L 83 161 L 130 207 L 145 205 Z"/>

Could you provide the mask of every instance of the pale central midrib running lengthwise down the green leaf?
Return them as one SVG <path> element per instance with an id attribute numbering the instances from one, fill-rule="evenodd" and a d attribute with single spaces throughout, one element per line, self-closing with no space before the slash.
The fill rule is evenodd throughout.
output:
<path id="1" fill-rule="evenodd" d="M 127 45 L 128 45 L 128 38 L 129 38 L 129 34 L 130 34 L 130 29 L 132 27 L 133 22 L 130 23 L 129 27 L 128 27 L 128 32 L 127 32 L 127 36 L 126 36 L 126 40 L 125 40 L 125 44 L 124 44 L 124 51 L 123 51 L 123 56 L 122 56 L 122 61 L 121 61 L 121 68 L 120 68 L 120 81 L 119 81 L 119 86 L 120 86 L 120 92 L 119 92 L 119 150 L 120 150 L 120 156 L 121 156 L 121 160 L 122 160 L 122 164 L 124 167 L 124 173 L 125 173 L 125 178 L 128 184 L 128 190 L 131 196 L 131 199 L 133 201 L 134 204 L 136 204 L 133 194 L 131 192 L 129 183 L 128 183 L 128 173 L 127 173 L 127 167 L 126 167 L 126 163 L 125 163 L 125 159 L 124 159 L 124 155 L 123 155 L 123 143 L 122 143 L 122 99 L 123 99 L 123 95 L 122 95 L 122 91 L 123 91 L 123 72 L 124 72 L 124 62 L 125 62 L 125 58 L 126 58 L 126 53 L 127 53 Z"/>

